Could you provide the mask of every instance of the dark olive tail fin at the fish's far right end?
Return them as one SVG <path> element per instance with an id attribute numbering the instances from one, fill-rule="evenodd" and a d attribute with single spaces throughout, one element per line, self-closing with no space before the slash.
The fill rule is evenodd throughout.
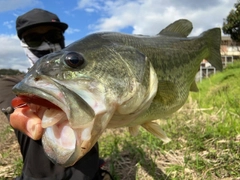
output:
<path id="1" fill-rule="evenodd" d="M 209 47 L 209 55 L 206 60 L 211 63 L 217 70 L 222 71 L 222 60 L 220 54 L 221 45 L 221 30 L 220 28 L 213 28 L 202 33 L 207 45 Z"/>

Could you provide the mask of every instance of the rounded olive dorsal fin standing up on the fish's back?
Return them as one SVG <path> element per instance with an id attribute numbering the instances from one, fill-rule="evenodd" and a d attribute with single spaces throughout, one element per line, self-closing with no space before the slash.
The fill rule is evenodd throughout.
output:
<path id="1" fill-rule="evenodd" d="M 187 37 L 193 29 L 192 23 L 187 19 L 179 19 L 164 28 L 158 35 Z"/>

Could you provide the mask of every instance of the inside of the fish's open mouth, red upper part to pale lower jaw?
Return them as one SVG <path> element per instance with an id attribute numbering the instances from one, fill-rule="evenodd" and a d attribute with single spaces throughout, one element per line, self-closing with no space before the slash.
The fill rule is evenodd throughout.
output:
<path id="1" fill-rule="evenodd" d="M 54 163 L 64 164 L 71 157 L 77 135 L 58 106 L 37 96 L 18 96 L 12 100 L 12 106 L 30 108 L 41 119 L 43 148 Z"/>

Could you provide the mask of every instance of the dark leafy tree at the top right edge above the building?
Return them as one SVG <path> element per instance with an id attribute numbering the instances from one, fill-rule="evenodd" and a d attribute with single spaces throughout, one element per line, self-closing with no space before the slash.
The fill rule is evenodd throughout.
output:
<path id="1" fill-rule="evenodd" d="M 240 42 L 240 0 L 237 0 L 234 9 L 223 20 L 222 30 L 224 34 L 229 34 L 232 40 Z"/>

